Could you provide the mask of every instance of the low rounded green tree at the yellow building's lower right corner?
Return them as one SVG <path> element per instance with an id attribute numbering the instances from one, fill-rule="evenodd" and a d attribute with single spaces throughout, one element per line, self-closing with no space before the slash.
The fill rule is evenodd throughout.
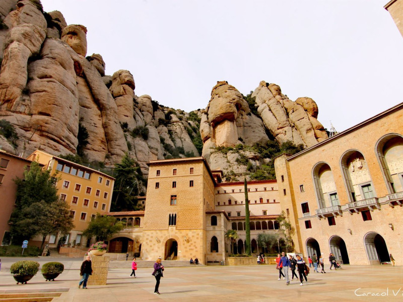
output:
<path id="1" fill-rule="evenodd" d="M 88 224 L 88 228 L 83 232 L 87 238 L 95 237 L 97 241 L 109 240 L 113 234 L 123 230 L 124 224 L 116 221 L 113 216 L 102 216 L 97 214 Z"/>

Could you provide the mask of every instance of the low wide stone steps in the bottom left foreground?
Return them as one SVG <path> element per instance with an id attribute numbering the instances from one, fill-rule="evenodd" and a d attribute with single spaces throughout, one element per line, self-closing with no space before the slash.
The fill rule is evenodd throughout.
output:
<path id="1" fill-rule="evenodd" d="M 69 288 L 55 289 L 16 289 L 16 290 L 0 290 L 0 302 L 43 302 L 51 301 L 53 298 L 60 296 L 63 292 L 69 291 Z"/>

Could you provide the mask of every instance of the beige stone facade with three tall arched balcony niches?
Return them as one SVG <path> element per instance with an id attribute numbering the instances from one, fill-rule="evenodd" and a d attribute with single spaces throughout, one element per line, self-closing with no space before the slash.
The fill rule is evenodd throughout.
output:
<path id="1" fill-rule="evenodd" d="M 280 203 L 296 250 L 342 263 L 396 264 L 403 248 L 403 104 L 275 159 Z"/>

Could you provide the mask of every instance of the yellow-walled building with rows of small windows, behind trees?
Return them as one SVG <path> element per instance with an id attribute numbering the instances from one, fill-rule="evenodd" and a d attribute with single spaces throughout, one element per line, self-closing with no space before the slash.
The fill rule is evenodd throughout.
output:
<path id="1" fill-rule="evenodd" d="M 97 213 L 110 211 L 115 179 L 97 170 L 52 156 L 36 150 L 28 160 L 37 161 L 50 170 L 51 175 L 57 173 L 56 184 L 60 199 L 65 200 L 71 208 L 71 216 L 75 228 L 65 239 L 66 245 L 88 246 L 84 242 L 82 232 L 87 228 L 92 217 Z M 36 239 L 34 239 L 36 240 Z M 39 241 L 39 239 L 37 239 Z M 55 247 L 59 238 L 51 236 L 49 247 Z"/>

